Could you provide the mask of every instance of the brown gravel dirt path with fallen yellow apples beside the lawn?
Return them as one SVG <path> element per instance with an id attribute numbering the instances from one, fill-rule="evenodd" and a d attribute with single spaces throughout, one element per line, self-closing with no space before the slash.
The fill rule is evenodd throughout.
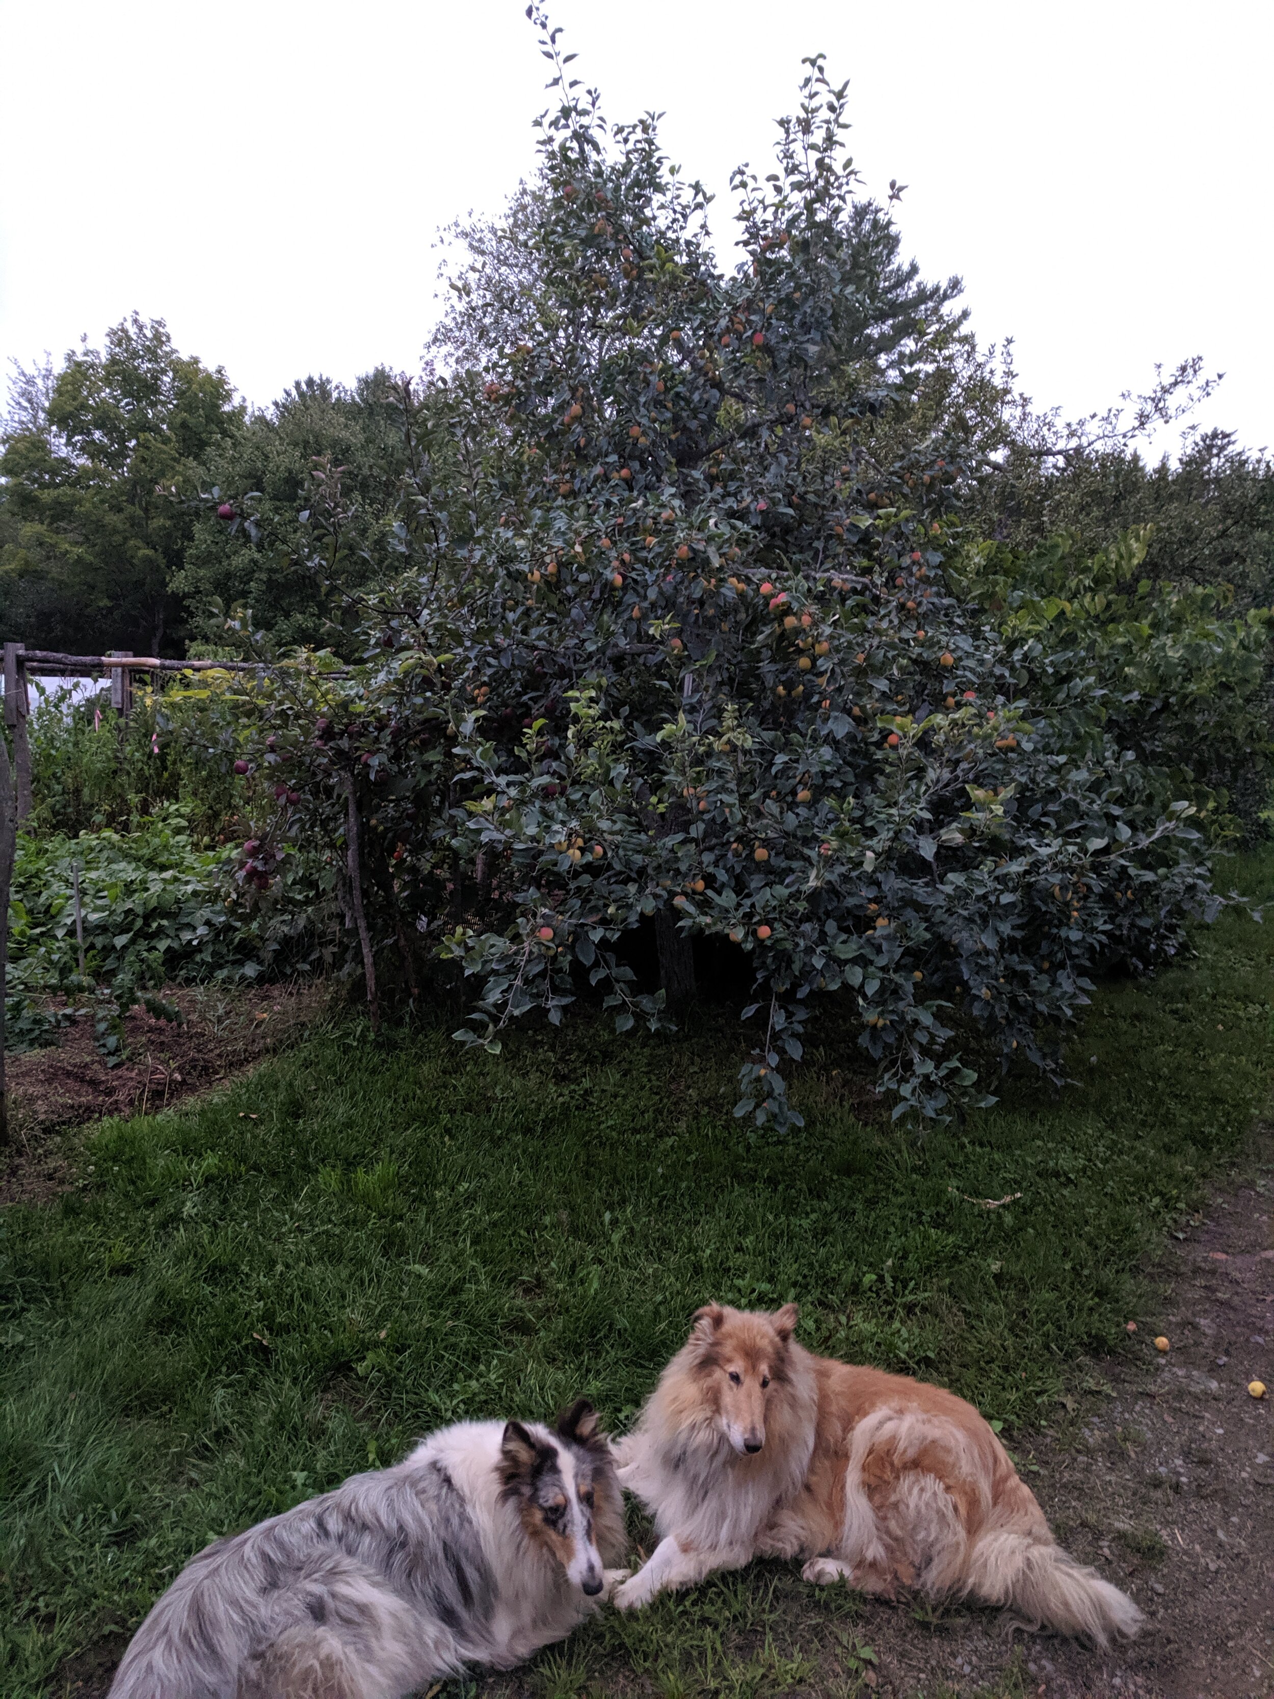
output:
<path id="1" fill-rule="evenodd" d="M 1085 1364 L 1048 1434 L 1016 1448 L 1077 1558 L 1131 1592 L 1140 1640 L 1111 1655 L 982 1614 L 927 1626 L 866 1604 L 878 1691 L 1048 1699 L 1274 1696 L 1274 1135 L 1213 1189 L 1155 1271 L 1128 1351 Z M 1153 1290 L 1153 1288 L 1152 1288 Z M 1155 1351 L 1164 1335 L 1170 1349 Z M 1257 1400 L 1254 1380 L 1271 1391 Z"/>

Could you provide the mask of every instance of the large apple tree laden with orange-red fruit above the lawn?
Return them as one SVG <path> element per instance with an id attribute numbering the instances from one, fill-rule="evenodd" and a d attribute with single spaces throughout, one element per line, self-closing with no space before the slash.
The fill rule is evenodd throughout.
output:
<path id="1" fill-rule="evenodd" d="M 761 1016 L 758 1121 L 795 1118 L 780 1067 L 820 992 L 897 1113 L 985 1101 L 970 1031 L 1057 1075 L 1092 974 L 1220 906 L 1208 775 L 1174 770 L 1264 627 L 1150 588 L 1058 622 L 1046 556 L 965 547 L 956 445 L 873 455 L 946 294 L 854 200 L 820 61 L 778 170 L 736 177 L 732 274 L 652 124 L 608 136 L 561 63 L 555 87 L 537 183 L 455 280 L 445 340 L 481 369 L 399 389 L 404 571 L 362 603 L 364 661 L 240 686 L 241 880 L 323 853 L 369 994 L 450 958 L 489 1048 L 579 996 L 666 1023 L 713 945 Z M 338 561 L 340 506 L 307 525 Z M 1108 596 L 1108 566 L 1074 571 Z"/>

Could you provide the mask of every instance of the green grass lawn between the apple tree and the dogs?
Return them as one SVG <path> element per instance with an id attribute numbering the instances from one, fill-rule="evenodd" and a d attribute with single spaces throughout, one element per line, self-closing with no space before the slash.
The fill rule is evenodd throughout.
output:
<path id="1" fill-rule="evenodd" d="M 1274 892 L 1274 855 L 1240 873 Z M 442 1422 L 578 1393 L 627 1422 L 708 1298 L 797 1298 L 809 1346 L 1045 1424 L 1266 1109 L 1272 989 L 1274 926 L 1230 914 L 1099 992 L 1062 1096 L 1011 1082 L 922 1143 L 854 1120 L 817 1028 L 805 1130 L 749 1137 L 715 1018 L 685 1040 L 581 1021 L 496 1058 L 336 1026 L 199 1106 L 105 1123 L 76 1189 L 0 1218 L 0 1691 L 51 1691 L 209 1539 Z M 768 1566 L 612 1616 L 535 1679 L 781 1692 L 803 1667 L 766 1612 L 790 1585 Z"/>

